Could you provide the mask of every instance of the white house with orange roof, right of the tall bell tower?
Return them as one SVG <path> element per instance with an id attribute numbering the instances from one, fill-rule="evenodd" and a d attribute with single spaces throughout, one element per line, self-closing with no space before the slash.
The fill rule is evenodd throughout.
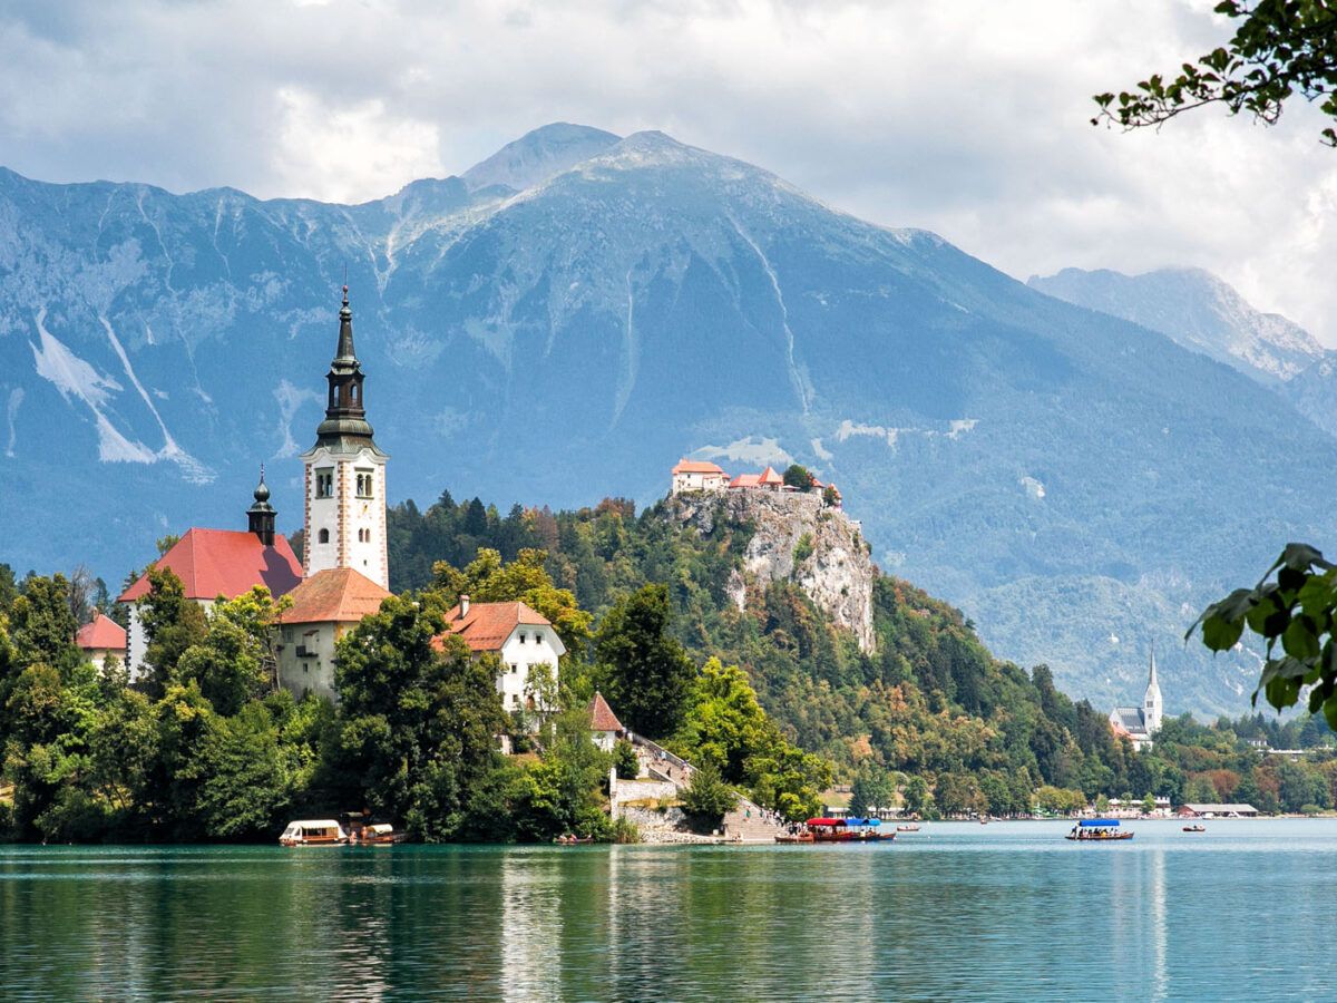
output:
<path id="1" fill-rule="evenodd" d="M 501 709 L 513 711 L 552 710 L 544 703 L 541 693 L 535 691 L 529 670 L 543 667 L 558 678 L 558 659 L 567 653 L 558 631 L 543 614 L 531 610 L 521 602 L 476 603 L 461 595 L 445 614 L 448 634 L 461 638 L 473 654 L 493 654 L 501 662 L 497 674 L 497 693 L 501 694 Z M 440 650 L 445 646 L 445 634 L 433 639 Z M 503 742 L 504 750 L 505 742 Z"/>

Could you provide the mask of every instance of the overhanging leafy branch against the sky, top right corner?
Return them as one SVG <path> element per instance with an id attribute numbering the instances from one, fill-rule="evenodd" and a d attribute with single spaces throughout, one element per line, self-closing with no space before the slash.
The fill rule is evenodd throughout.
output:
<path id="1" fill-rule="evenodd" d="M 1238 21 L 1229 43 L 1197 63 L 1185 63 L 1170 80 L 1154 74 L 1118 99 L 1096 95 L 1100 111 L 1092 124 L 1142 128 L 1223 104 L 1231 115 L 1247 112 L 1270 126 L 1297 95 L 1337 119 L 1337 5 L 1330 0 L 1225 0 L 1215 11 Z M 1337 146 L 1337 131 L 1324 128 L 1322 140 Z"/>

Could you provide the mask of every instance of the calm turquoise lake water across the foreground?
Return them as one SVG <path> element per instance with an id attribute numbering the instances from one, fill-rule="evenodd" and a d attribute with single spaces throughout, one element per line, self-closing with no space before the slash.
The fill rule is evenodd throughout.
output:
<path id="1" fill-rule="evenodd" d="M 755 848 L 0 848 L 0 996 L 1333 999 L 1337 821 Z"/>

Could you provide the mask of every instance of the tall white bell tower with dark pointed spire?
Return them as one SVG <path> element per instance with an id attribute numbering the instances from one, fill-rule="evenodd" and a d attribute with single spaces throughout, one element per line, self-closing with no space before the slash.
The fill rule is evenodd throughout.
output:
<path id="1" fill-rule="evenodd" d="M 338 312 L 338 346 L 325 378 L 330 385 L 325 420 L 316 429 L 316 445 L 302 453 L 306 465 L 306 575 L 348 567 L 389 588 L 385 547 L 385 461 L 389 457 L 376 448 L 366 421 L 365 377 L 353 352 L 348 286 L 344 286 Z"/>

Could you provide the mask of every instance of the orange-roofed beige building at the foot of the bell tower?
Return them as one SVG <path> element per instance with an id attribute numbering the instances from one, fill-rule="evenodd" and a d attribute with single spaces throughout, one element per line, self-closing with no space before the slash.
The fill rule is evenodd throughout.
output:
<path id="1" fill-rule="evenodd" d="M 388 588 L 349 567 L 317 571 L 289 592 L 279 614 L 278 681 L 301 698 L 308 693 L 338 699 L 334 645 L 364 617 L 381 608 Z"/>

